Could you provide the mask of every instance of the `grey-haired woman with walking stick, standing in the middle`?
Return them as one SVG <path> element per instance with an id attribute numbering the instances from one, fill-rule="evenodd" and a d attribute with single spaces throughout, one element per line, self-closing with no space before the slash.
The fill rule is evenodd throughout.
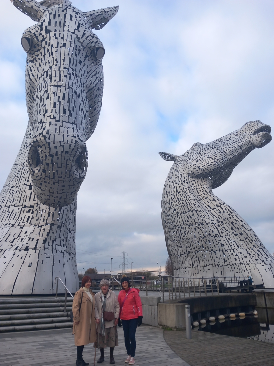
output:
<path id="1" fill-rule="evenodd" d="M 109 281 L 100 282 L 101 291 L 95 295 L 95 319 L 98 324 L 97 347 L 100 348 L 101 356 L 97 363 L 104 361 L 104 348 L 110 347 L 110 363 L 114 364 L 113 351 L 118 346 L 117 324 L 120 306 L 117 296 L 109 289 Z M 114 319 L 107 321 L 104 312 L 113 313 Z M 95 344 L 94 344 L 95 347 Z"/>

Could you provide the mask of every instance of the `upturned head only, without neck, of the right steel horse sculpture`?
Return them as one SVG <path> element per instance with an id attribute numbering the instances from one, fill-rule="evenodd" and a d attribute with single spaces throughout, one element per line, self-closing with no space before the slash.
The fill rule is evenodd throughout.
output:
<path id="1" fill-rule="evenodd" d="M 213 189 L 221 186 L 252 150 L 267 145 L 271 139 L 269 125 L 251 121 L 212 142 L 196 142 L 180 156 L 159 154 L 164 160 L 175 162 L 172 170 L 179 169 L 189 178 L 206 179 Z"/>

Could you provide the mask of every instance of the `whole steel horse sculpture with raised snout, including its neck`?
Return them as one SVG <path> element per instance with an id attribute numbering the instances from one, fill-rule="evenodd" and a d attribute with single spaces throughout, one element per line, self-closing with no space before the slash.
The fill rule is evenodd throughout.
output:
<path id="1" fill-rule="evenodd" d="M 174 275 L 186 278 L 247 277 L 274 288 L 274 258 L 235 210 L 216 197 L 247 154 L 271 141 L 260 121 L 209 143 L 195 143 L 174 161 L 165 181 L 162 223 Z"/>

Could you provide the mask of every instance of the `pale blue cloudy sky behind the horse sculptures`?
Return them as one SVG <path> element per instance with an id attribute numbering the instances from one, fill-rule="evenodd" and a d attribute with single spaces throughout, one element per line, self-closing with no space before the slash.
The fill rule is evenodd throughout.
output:
<path id="1" fill-rule="evenodd" d="M 261 120 L 274 126 L 274 2 L 267 0 L 75 0 L 82 11 L 120 5 L 95 31 L 106 49 L 103 107 L 87 142 L 89 165 L 78 194 L 79 272 L 164 267 L 161 195 L 183 154 Z M 0 185 L 27 126 L 23 31 L 34 24 L 8 0 L 0 13 Z M 274 251 L 274 142 L 256 149 L 214 194 Z"/>

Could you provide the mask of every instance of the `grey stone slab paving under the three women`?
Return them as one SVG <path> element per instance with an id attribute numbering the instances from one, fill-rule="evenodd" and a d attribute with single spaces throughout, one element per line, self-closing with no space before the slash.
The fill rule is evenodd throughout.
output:
<path id="1" fill-rule="evenodd" d="M 75 366 L 76 347 L 71 333 L 72 329 L 60 329 L 1 334 L 0 366 Z M 119 347 L 114 349 L 115 365 L 126 365 L 122 328 L 118 328 L 118 339 Z M 136 342 L 135 365 L 189 366 L 167 346 L 161 328 L 140 326 L 136 331 Z M 83 352 L 85 362 L 91 366 L 94 365 L 92 346 L 85 346 Z M 96 360 L 99 356 L 97 350 Z M 102 365 L 110 365 L 109 348 L 105 356 Z"/>

